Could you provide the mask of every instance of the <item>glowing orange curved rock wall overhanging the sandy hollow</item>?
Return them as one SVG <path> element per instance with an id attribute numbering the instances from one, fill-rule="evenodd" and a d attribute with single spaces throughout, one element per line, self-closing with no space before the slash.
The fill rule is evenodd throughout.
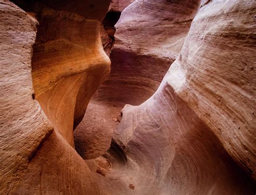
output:
<path id="1" fill-rule="evenodd" d="M 99 39 L 100 22 L 48 8 L 36 11 L 40 17 L 32 58 L 36 99 L 55 130 L 73 145 L 73 126 L 83 119 L 92 94 L 110 71 Z"/>

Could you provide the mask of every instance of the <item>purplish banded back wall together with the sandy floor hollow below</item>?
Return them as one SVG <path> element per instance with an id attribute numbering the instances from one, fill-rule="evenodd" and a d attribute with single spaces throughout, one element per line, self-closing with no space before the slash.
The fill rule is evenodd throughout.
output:
<path id="1" fill-rule="evenodd" d="M 126 103 L 140 105 L 156 91 L 181 50 L 199 6 L 196 1 L 135 1 L 124 10 L 115 8 L 123 3 L 110 5 L 122 11 L 115 25 L 110 76 L 93 95 L 75 130 L 79 154 L 86 159 L 109 149 L 119 124 L 116 117 Z"/>

